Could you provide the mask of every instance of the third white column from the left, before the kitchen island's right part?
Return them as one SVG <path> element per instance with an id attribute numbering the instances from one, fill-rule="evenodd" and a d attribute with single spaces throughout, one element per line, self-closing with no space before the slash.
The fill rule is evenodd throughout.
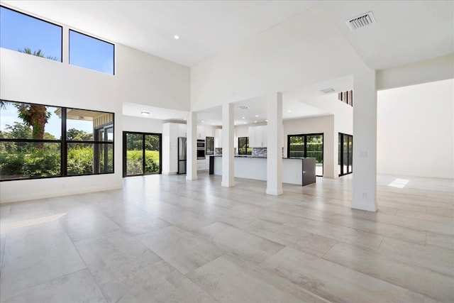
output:
<path id="1" fill-rule="evenodd" d="M 267 194 L 282 194 L 282 93 L 267 94 Z"/>

